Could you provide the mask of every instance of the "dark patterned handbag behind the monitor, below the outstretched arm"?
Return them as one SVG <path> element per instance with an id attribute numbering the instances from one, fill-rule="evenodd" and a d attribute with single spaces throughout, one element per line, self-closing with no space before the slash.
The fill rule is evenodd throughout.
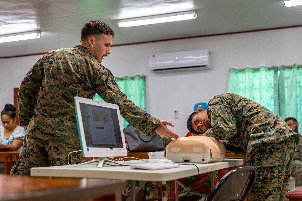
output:
<path id="1" fill-rule="evenodd" d="M 124 135 L 128 143 L 129 152 L 155 152 L 164 150 L 162 138 L 155 132 L 148 138 L 133 126 L 128 125 L 124 128 Z"/>

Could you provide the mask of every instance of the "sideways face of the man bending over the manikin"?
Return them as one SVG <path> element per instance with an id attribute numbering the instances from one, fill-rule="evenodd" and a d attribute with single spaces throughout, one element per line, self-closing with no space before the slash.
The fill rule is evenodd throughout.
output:
<path id="1" fill-rule="evenodd" d="M 192 118 L 192 128 L 198 133 L 204 133 L 209 128 L 213 128 L 210 124 L 207 111 L 204 109 L 199 109 L 198 113 Z"/>

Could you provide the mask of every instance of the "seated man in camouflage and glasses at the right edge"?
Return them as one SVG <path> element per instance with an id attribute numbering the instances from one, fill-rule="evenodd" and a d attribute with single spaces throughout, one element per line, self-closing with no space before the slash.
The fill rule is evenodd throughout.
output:
<path id="1" fill-rule="evenodd" d="M 299 134 L 298 127 L 299 124 L 297 119 L 293 117 L 288 117 L 285 120 L 285 123 L 294 130 L 297 134 Z M 291 170 L 291 176 L 295 178 L 296 187 L 302 186 L 302 136 L 299 134 L 300 140 L 296 145 L 296 152 L 293 161 L 293 169 Z"/>

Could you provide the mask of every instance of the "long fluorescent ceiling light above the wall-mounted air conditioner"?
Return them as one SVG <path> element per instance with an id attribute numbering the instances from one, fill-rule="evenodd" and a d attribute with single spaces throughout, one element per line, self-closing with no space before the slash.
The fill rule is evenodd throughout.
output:
<path id="1" fill-rule="evenodd" d="M 196 11 L 185 11 L 185 12 L 178 12 L 178 13 L 169 13 L 169 14 L 162 14 L 162 15 L 153 15 L 147 17 L 136 17 L 136 18 L 118 20 L 117 24 L 119 27 L 134 27 L 134 26 L 141 26 L 147 24 L 159 24 L 165 22 L 192 20 L 196 18 L 197 18 Z"/>

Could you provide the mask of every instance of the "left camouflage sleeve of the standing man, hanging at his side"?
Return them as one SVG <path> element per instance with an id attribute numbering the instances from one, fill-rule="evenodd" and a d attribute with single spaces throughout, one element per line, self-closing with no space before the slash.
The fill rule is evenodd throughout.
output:
<path id="1" fill-rule="evenodd" d="M 27 126 L 32 116 L 39 97 L 43 70 L 43 57 L 40 58 L 33 68 L 25 75 L 18 95 L 18 115 L 20 126 Z"/>

